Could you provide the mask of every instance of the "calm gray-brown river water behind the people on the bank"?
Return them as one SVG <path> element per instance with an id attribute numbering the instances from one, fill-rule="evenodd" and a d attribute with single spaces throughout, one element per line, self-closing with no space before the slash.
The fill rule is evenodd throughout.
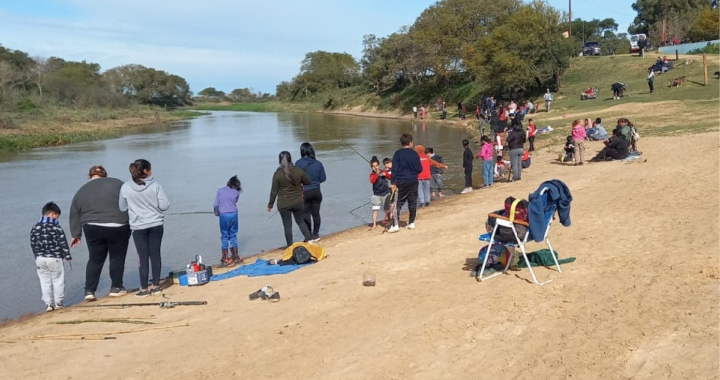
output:
<path id="1" fill-rule="evenodd" d="M 300 158 L 300 144 L 313 144 L 325 166 L 322 185 L 323 217 L 320 234 L 341 231 L 371 221 L 369 165 L 360 154 L 380 160 L 392 157 L 399 136 L 413 131 L 416 144 L 432 146 L 450 165 L 445 174 L 447 193 L 463 186 L 461 140 L 466 133 L 422 121 L 384 120 L 336 115 L 213 112 L 172 127 L 145 128 L 113 140 L 33 149 L 0 155 L 0 319 L 16 318 L 44 308 L 35 271 L 29 232 L 42 206 L 56 202 L 63 213 L 61 226 L 69 236 L 69 210 L 73 195 L 87 181 L 92 165 L 103 165 L 109 176 L 129 180 L 128 165 L 145 158 L 162 184 L 171 206 L 165 218 L 163 277 L 183 268 L 194 255 L 206 262 L 220 257 L 217 218 L 210 212 L 218 188 L 238 175 L 243 192 L 238 202 L 240 252 L 244 256 L 284 245 L 279 215 L 266 210 L 270 179 L 278 153 L 288 150 Z M 337 135 L 337 136 L 336 136 Z M 275 209 L 273 209 L 273 212 Z M 301 235 L 295 227 L 295 239 Z M 87 248 L 72 250 L 73 268 L 66 265 L 65 303 L 82 301 Z M 136 252 L 132 241 L 125 269 L 125 287 L 139 285 Z M 109 292 L 106 263 L 98 296 Z"/>

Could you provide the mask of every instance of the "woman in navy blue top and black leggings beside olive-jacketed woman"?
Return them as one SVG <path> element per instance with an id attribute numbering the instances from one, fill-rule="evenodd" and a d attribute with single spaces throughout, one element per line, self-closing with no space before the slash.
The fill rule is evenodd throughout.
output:
<path id="1" fill-rule="evenodd" d="M 300 158 L 295 166 L 302 169 L 308 177 L 310 184 L 303 187 L 303 199 L 305 200 L 305 208 L 303 210 L 303 219 L 310 231 L 310 242 L 320 241 L 320 204 L 322 203 L 322 192 L 320 184 L 327 179 L 325 176 L 325 167 L 322 162 L 315 159 L 315 149 L 309 142 L 300 145 Z"/>

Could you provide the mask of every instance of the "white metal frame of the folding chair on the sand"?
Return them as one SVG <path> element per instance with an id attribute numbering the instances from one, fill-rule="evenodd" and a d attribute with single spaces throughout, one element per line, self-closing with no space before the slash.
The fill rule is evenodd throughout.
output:
<path id="1" fill-rule="evenodd" d="M 548 190 L 547 187 L 543 188 L 540 191 L 540 195 L 547 196 L 545 194 L 545 192 L 547 190 Z M 480 267 L 480 271 L 478 272 L 478 276 L 477 276 L 478 280 L 481 282 L 489 280 L 493 277 L 499 276 L 499 275 L 507 272 L 508 269 L 510 268 L 510 263 L 512 262 L 513 256 L 516 254 L 516 252 L 514 252 L 515 251 L 514 249 L 510 252 L 510 257 L 508 259 L 507 264 L 505 264 L 505 268 L 502 270 L 502 272 L 493 273 L 485 278 L 483 278 L 483 276 L 482 276 L 483 272 L 485 272 L 485 266 L 487 265 L 488 257 L 490 256 L 490 250 L 491 250 L 493 244 L 501 244 L 501 245 L 507 245 L 510 247 L 520 247 L 520 251 L 522 252 L 523 257 L 525 258 L 525 262 L 528 264 L 528 269 L 530 270 L 530 274 L 532 275 L 533 281 L 537 285 L 545 285 L 548 282 L 552 282 L 554 280 L 553 278 L 546 280 L 544 282 L 539 282 L 537 277 L 535 276 L 535 271 L 533 271 L 532 266 L 530 265 L 530 261 L 528 261 L 527 252 L 525 250 L 525 245 L 528 243 L 528 239 L 530 237 L 530 233 L 531 233 L 530 225 L 525 222 L 519 222 L 519 221 L 513 222 L 512 220 L 510 220 L 509 217 L 503 216 L 503 215 L 490 213 L 490 214 L 488 214 L 488 216 L 495 218 L 495 227 L 493 228 L 492 233 L 483 234 L 478 237 L 478 239 L 480 241 L 485 241 L 485 242 L 490 243 L 490 245 L 487 248 L 487 253 L 485 254 L 485 259 L 483 260 L 483 264 Z M 558 269 L 558 273 L 562 273 L 562 269 L 560 269 L 560 264 L 558 264 L 558 262 L 557 262 L 557 257 L 555 257 L 555 251 L 553 250 L 552 245 L 550 244 L 550 238 L 548 237 L 548 235 L 550 233 L 550 226 L 552 225 L 552 221 L 554 219 L 555 219 L 555 206 L 551 206 L 545 212 L 545 234 L 543 235 L 543 240 L 545 240 L 545 242 L 548 245 L 548 248 L 550 248 L 550 253 L 553 257 L 553 260 L 555 261 L 555 266 Z M 528 227 L 527 232 L 525 232 L 525 236 L 522 236 L 522 237 L 518 236 L 517 229 L 515 229 L 516 223 Z M 508 228 L 512 229 L 513 236 L 515 237 L 515 243 L 502 244 L 500 242 L 496 242 L 495 234 L 499 227 L 508 227 Z"/>

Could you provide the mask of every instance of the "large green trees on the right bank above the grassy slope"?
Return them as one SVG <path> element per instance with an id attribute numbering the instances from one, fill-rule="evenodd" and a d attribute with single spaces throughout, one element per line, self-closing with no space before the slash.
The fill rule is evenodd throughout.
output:
<path id="1" fill-rule="evenodd" d="M 688 30 L 717 38 L 718 27 L 713 30 L 712 23 L 697 26 L 703 12 L 717 14 L 715 1 L 668 1 L 673 12 L 683 9 L 696 25 Z M 633 9 L 638 17 L 630 33 L 654 38 L 652 28 L 662 20 L 662 8 L 659 14 L 657 9 L 661 3 L 637 0 Z M 440 0 L 412 25 L 389 36 L 364 36 L 359 59 L 348 53 L 307 53 L 299 73 L 278 84 L 275 95 L 303 100 L 348 88 L 381 96 L 409 88 L 437 94 L 468 83 L 488 92 L 544 92 L 546 87 L 560 89 L 570 57 L 582 51 L 585 41 L 600 42 L 603 54 L 629 50 L 628 34 L 618 33 L 612 18 L 578 18 L 571 24 L 569 35 L 568 15 L 543 1 Z"/>

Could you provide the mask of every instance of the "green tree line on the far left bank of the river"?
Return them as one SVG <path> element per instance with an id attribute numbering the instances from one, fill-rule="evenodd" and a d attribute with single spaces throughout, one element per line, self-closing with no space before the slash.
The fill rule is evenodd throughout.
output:
<path id="1" fill-rule="evenodd" d="M 0 45 L 0 109 L 5 112 L 32 111 L 43 105 L 167 107 L 191 101 L 187 81 L 162 70 L 130 64 L 101 72 L 97 63 L 30 57 Z"/>

